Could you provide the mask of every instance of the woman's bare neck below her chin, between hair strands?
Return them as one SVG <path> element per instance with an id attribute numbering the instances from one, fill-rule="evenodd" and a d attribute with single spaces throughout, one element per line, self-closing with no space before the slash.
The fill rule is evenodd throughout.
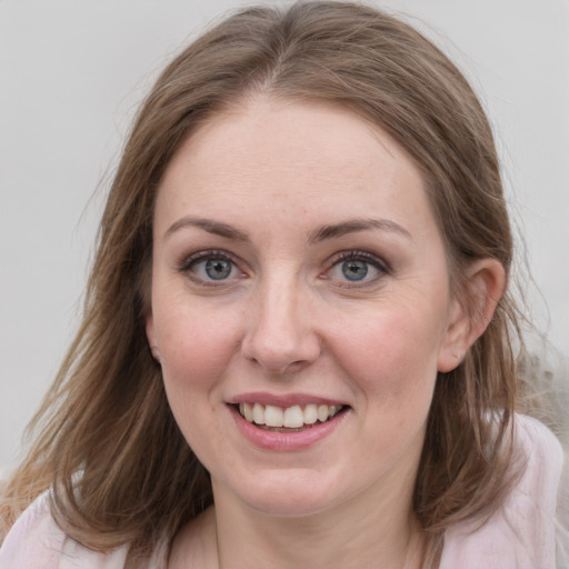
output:
<path id="1" fill-rule="evenodd" d="M 349 508 L 302 518 L 271 517 L 226 499 L 218 505 L 219 569 L 420 566 L 422 538 L 410 500 L 403 505 L 386 497 L 370 508 L 369 497 L 361 496 Z"/>

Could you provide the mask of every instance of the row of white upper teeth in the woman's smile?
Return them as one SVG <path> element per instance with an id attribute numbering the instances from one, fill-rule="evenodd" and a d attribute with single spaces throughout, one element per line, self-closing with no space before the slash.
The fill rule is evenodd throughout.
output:
<path id="1" fill-rule="evenodd" d="M 316 421 L 327 421 L 339 410 L 339 405 L 307 405 L 305 408 L 299 405 L 276 407 L 261 403 L 239 403 L 239 412 L 249 421 L 267 427 L 287 427 L 298 429 L 303 425 L 313 425 Z"/>

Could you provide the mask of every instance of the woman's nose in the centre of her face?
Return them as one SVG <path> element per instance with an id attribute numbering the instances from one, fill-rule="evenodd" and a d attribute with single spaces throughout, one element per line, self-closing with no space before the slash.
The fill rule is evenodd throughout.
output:
<path id="1" fill-rule="evenodd" d="M 313 362 L 321 346 L 310 293 L 295 278 L 274 277 L 251 298 L 242 355 L 272 375 L 298 371 Z"/>

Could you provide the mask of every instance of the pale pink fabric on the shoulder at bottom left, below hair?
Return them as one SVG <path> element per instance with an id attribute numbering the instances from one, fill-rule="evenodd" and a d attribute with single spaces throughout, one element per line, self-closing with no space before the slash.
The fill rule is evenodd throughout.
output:
<path id="1" fill-rule="evenodd" d="M 128 548 L 103 555 L 67 536 L 41 495 L 12 526 L 0 548 L 0 569 L 123 569 Z"/>

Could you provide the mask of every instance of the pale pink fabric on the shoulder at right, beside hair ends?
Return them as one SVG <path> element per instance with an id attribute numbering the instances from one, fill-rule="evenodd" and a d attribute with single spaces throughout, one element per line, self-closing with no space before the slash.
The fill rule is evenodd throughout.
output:
<path id="1" fill-rule="evenodd" d="M 516 416 L 519 480 L 488 518 L 447 530 L 440 569 L 555 569 L 558 493 L 563 451 L 537 419 Z"/>

